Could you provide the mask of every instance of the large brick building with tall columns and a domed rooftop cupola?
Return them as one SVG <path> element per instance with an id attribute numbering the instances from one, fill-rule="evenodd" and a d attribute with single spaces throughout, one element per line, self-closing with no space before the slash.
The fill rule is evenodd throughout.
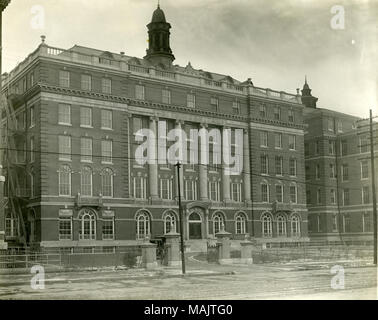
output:
<path id="1" fill-rule="evenodd" d="M 167 131 L 231 129 L 232 149 L 243 145 L 239 174 L 211 162 L 224 141 L 210 140 L 209 165 L 183 166 L 185 239 L 207 239 L 224 225 L 234 239 L 308 241 L 299 92 L 174 65 L 170 24 L 160 8 L 147 27 L 143 59 L 81 46 L 62 50 L 42 38 L 4 76 L 17 127 L 7 127 L 3 114 L 3 141 L 14 141 L 18 152 L 10 161 L 8 143 L 2 163 L 6 176 L 18 172 L 20 186 L 8 195 L 23 212 L 17 216 L 8 201 L 7 241 L 111 251 L 176 227 L 176 168 L 135 159 L 141 128 L 169 146 L 158 132 L 162 122 Z M 242 141 L 236 129 L 243 130 Z"/>

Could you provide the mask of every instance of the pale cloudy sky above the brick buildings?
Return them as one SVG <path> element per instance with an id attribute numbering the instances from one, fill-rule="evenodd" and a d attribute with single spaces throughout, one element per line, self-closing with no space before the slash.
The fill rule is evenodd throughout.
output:
<path id="1" fill-rule="evenodd" d="M 295 93 L 304 76 L 318 106 L 378 115 L 378 0 L 161 0 L 175 64 L 251 78 L 258 87 Z M 35 24 L 38 7 L 44 25 Z M 143 57 L 157 0 L 11 0 L 3 13 L 3 72 L 46 35 L 50 46 L 75 44 Z M 345 28 L 331 27 L 342 5 Z M 40 12 L 40 11 L 38 11 Z M 34 21 L 34 24 L 33 24 Z M 40 21 L 40 20 L 39 20 Z"/>

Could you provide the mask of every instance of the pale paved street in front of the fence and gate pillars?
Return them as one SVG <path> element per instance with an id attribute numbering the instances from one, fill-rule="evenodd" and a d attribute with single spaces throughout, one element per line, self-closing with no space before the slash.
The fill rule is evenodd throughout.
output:
<path id="1" fill-rule="evenodd" d="M 377 299 L 374 267 L 346 267 L 344 290 L 331 288 L 331 265 L 299 267 L 219 266 L 190 259 L 187 277 L 177 268 L 57 273 L 46 274 L 44 290 L 31 289 L 31 275 L 0 275 L 0 299 Z"/>

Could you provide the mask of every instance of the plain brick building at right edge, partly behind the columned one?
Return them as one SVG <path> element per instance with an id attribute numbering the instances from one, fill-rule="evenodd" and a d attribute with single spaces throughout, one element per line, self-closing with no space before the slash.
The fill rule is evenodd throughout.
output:
<path id="1" fill-rule="evenodd" d="M 305 171 L 309 236 L 312 241 L 371 243 L 373 175 L 368 122 L 317 108 L 317 98 L 311 95 L 307 81 L 302 101 L 306 106 L 307 124 Z"/>

